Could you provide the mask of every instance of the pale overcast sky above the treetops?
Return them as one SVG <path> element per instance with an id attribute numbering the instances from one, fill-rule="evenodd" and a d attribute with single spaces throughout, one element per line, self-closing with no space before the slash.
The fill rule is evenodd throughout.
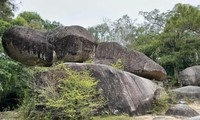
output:
<path id="1" fill-rule="evenodd" d="M 65 26 L 94 26 L 104 18 L 112 21 L 127 14 L 137 19 L 139 11 L 171 10 L 176 3 L 200 5 L 200 0 L 20 0 L 19 10 L 37 12 L 43 19 L 58 21 Z M 138 18 L 138 22 L 141 18 Z"/>

